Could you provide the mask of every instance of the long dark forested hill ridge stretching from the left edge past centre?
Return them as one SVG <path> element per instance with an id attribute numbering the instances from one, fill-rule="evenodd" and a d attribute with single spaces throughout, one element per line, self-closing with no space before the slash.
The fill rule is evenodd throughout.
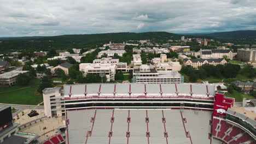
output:
<path id="1" fill-rule="evenodd" d="M 144 32 L 144 33 L 103 33 L 103 34 L 75 34 L 59 35 L 54 37 L 21 37 L 1 39 L 0 50 L 47 50 L 51 49 L 70 49 L 70 48 L 95 48 L 109 43 L 123 43 L 127 40 L 168 40 L 180 39 L 181 35 L 168 32 Z"/>

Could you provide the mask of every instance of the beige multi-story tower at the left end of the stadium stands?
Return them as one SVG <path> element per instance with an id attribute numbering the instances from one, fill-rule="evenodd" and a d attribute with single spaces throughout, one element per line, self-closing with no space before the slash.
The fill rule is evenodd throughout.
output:
<path id="1" fill-rule="evenodd" d="M 65 103 L 61 96 L 61 88 L 45 88 L 43 90 L 44 115 L 47 117 L 65 116 Z"/>

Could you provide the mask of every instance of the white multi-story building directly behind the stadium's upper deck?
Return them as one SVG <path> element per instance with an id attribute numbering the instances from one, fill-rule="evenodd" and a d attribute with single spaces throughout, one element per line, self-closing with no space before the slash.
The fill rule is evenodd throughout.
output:
<path id="1" fill-rule="evenodd" d="M 155 67 L 142 64 L 133 69 L 133 82 L 136 83 L 181 83 L 181 74 L 177 71 L 158 71 Z"/>

